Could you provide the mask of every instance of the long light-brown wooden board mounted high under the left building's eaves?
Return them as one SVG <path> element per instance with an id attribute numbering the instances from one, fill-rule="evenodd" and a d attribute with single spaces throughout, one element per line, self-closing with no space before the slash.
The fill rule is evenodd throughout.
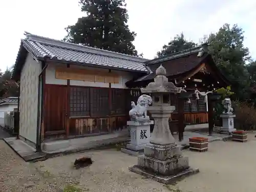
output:
<path id="1" fill-rule="evenodd" d="M 78 81 L 119 83 L 119 76 L 115 73 L 74 68 L 55 68 L 55 78 Z"/>

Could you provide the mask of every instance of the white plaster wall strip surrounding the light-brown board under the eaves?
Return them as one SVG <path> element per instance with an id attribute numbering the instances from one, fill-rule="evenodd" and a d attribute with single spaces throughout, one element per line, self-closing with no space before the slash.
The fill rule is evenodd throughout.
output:
<path id="1" fill-rule="evenodd" d="M 49 63 L 49 66 L 46 70 L 46 83 L 47 84 L 67 84 L 67 80 L 65 79 L 56 79 L 55 78 L 55 68 L 56 67 L 66 67 L 64 63 Z M 88 70 L 98 70 L 98 71 L 105 71 L 108 72 L 108 69 L 99 69 L 99 68 L 91 68 L 91 67 L 84 67 L 84 66 L 77 66 L 77 65 L 70 65 L 70 68 L 79 68 L 79 69 L 88 69 Z M 132 72 L 125 72 L 125 71 L 117 71 L 112 70 L 114 73 L 120 75 L 119 83 L 112 83 L 112 88 L 119 88 L 119 89 L 127 89 L 125 86 L 125 82 L 131 80 L 133 78 Z M 108 88 L 109 83 L 104 82 L 91 82 L 91 81 L 78 81 L 78 80 L 70 80 L 71 86 L 87 86 L 87 87 L 103 87 Z"/>

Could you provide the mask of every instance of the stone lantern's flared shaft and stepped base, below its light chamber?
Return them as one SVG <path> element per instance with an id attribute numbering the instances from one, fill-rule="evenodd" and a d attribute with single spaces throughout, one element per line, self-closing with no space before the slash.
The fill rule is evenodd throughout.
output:
<path id="1" fill-rule="evenodd" d="M 129 170 L 165 184 L 198 173 L 199 169 L 189 167 L 188 157 L 182 156 L 180 146 L 170 133 L 168 118 L 175 106 L 149 106 L 148 110 L 155 120 L 154 131 L 150 143 L 144 146 L 144 154 L 138 156 L 138 164 Z"/>

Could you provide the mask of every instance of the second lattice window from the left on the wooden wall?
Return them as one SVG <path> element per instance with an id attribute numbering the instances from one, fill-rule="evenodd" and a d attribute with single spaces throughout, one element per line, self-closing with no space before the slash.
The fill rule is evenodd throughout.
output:
<path id="1" fill-rule="evenodd" d="M 105 117 L 110 114 L 109 88 L 90 88 L 91 116 Z"/>

